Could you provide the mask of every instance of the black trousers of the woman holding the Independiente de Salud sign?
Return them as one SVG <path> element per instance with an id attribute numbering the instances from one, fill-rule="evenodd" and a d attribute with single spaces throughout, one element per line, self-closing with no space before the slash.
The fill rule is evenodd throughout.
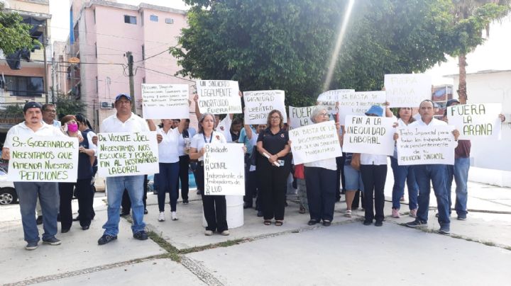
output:
<path id="1" fill-rule="evenodd" d="M 199 161 L 197 165 L 197 187 L 201 190 L 202 209 L 206 218 L 206 230 L 224 231 L 227 226 L 227 205 L 225 195 L 204 195 L 204 165 Z"/>

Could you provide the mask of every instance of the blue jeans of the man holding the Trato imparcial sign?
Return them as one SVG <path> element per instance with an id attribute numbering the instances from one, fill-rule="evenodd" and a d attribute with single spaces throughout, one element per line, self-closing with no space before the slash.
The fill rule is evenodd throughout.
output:
<path id="1" fill-rule="evenodd" d="M 427 222 L 431 182 L 436 196 L 436 204 L 438 205 L 439 224 L 449 227 L 451 220 L 449 219 L 449 199 L 447 198 L 447 190 L 445 188 L 446 165 L 416 165 L 413 166 L 413 170 L 417 179 L 417 185 L 419 185 L 417 219 Z"/>

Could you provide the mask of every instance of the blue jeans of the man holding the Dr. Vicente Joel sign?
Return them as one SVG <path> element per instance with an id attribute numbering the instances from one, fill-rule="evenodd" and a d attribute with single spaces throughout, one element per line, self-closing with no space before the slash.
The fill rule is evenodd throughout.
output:
<path id="1" fill-rule="evenodd" d="M 145 223 L 143 222 L 143 181 L 144 176 L 119 176 L 106 178 L 106 200 L 108 200 L 108 220 L 103 225 L 104 234 L 116 236 L 119 234 L 119 211 L 121 209 L 121 200 L 124 189 L 128 190 L 131 200 L 131 217 L 133 225 L 131 231 L 136 234 L 143 231 Z"/>

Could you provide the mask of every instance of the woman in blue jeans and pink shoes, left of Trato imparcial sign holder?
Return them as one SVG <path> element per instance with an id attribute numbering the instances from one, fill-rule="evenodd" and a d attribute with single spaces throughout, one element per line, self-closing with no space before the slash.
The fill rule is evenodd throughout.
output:
<path id="1" fill-rule="evenodd" d="M 412 108 L 399 108 L 397 110 L 397 124 L 395 127 L 406 127 L 414 122 L 412 117 Z M 410 208 L 410 217 L 417 217 L 417 196 L 419 195 L 419 185 L 415 180 L 415 173 L 412 166 L 399 166 L 397 164 L 397 147 L 394 147 L 394 155 L 390 157 L 390 166 L 394 173 L 394 186 L 392 187 L 392 217 L 400 217 L 400 199 L 405 193 L 405 182 L 408 187 L 408 207 Z"/>

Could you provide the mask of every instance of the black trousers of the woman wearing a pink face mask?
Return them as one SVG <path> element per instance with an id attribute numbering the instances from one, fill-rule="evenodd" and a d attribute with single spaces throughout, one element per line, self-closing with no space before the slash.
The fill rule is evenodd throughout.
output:
<path id="1" fill-rule="evenodd" d="M 60 195 L 60 226 L 62 229 L 70 229 L 72 224 L 71 201 L 73 190 L 77 188 L 78 208 L 82 210 L 79 215 L 80 226 L 84 227 L 90 224 L 92 218 L 92 190 L 90 186 L 91 178 L 79 179 L 76 183 L 59 183 Z"/>

